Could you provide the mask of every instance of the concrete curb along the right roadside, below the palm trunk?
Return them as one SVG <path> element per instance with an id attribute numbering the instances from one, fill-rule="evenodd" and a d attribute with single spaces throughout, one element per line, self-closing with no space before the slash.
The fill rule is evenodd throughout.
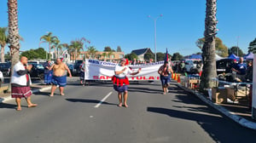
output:
<path id="1" fill-rule="evenodd" d="M 177 86 L 189 93 L 195 94 L 199 99 L 201 99 L 202 101 L 204 101 L 205 103 L 207 103 L 207 105 L 212 106 L 214 109 L 218 110 L 218 112 L 223 113 L 226 117 L 229 117 L 230 119 L 232 119 L 233 121 L 235 121 L 236 123 L 239 123 L 242 127 L 246 127 L 248 129 L 254 129 L 256 130 L 256 123 L 252 122 L 252 121 L 248 121 L 247 119 L 245 119 L 244 117 L 238 116 L 230 111 L 228 111 L 226 108 L 224 108 L 223 106 L 218 106 L 218 104 L 213 103 L 212 100 L 208 100 L 204 95 L 195 92 L 194 90 L 191 89 L 186 89 L 184 88 L 182 85 L 177 84 Z"/>

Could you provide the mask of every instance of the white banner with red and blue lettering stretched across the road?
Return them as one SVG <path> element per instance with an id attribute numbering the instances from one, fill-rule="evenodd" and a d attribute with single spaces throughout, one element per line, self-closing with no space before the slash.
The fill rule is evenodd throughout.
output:
<path id="1" fill-rule="evenodd" d="M 160 80 L 158 69 L 164 64 L 164 61 L 159 61 L 156 63 L 148 63 L 143 65 L 131 65 L 132 72 L 137 72 L 139 68 L 142 71 L 136 76 L 128 75 L 129 80 Z M 85 80 L 111 80 L 114 75 L 114 68 L 116 64 L 107 61 L 100 60 L 85 60 Z"/>

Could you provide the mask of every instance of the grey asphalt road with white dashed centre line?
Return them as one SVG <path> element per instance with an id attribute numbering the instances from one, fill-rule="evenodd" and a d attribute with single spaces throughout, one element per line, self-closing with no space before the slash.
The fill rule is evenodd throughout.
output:
<path id="1" fill-rule="evenodd" d="M 36 108 L 15 111 L 15 101 L 0 104 L 1 143 L 255 143 L 256 132 L 242 128 L 172 85 L 133 83 L 128 108 L 118 107 L 108 83 L 82 87 L 69 82 L 66 95 L 32 96 Z M 105 98 L 104 98 L 105 97 Z M 106 99 L 102 104 L 98 104 Z"/>

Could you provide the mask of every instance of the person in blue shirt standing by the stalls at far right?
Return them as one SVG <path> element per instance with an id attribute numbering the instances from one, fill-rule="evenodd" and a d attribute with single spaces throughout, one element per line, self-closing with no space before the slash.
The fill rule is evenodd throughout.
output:
<path id="1" fill-rule="evenodd" d="M 243 63 L 243 58 L 240 57 L 239 62 L 232 68 L 233 72 L 236 72 L 236 77 L 241 81 L 245 81 L 245 75 L 247 72 L 247 65 Z"/>

